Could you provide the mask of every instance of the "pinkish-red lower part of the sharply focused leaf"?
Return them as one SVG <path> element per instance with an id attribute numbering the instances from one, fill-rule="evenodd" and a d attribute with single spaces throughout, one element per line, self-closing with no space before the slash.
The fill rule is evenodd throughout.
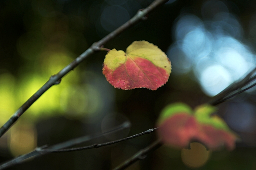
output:
<path id="1" fill-rule="evenodd" d="M 127 57 L 126 62 L 116 70 L 111 70 L 105 65 L 102 70 L 110 84 L 124 90 L 141 87 L 156 90 L 169 78 L 169 74 L 163 68 L 143 58 L 133 60 Z"/>

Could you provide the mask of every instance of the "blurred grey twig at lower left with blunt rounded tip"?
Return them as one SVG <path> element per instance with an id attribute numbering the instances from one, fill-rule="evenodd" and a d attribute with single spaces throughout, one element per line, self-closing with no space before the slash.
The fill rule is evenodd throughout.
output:
<path id="1" fill-rule="evenodd" d="M 68 140 L 68 141 L 65 141 L 65 142 L 62 142 L 62 143 L 59 143 L 59 144 L 52 145 L 50 147 L 48 147 L 47 145 L 41 146 L 41 147 L 36 148 L 34 151 L 32 151 L 28 154 L 18 156 L 17 158 L 14 158 L 14 159 L 12 159 L 8 162 L 5 162 L 5 163 L 1 164 L 0 165 L 0 170 L 5 169 L 5 168 L 10 167 L 10 166 L 13 166 L 13 165 L 16 165 L 16 164 L 19 164 L 19 163 L 22 163 L 24 160 L 26 160 L 30 157 L 39 157 L 39 156 L 42 156 L 42 155 L 45 155 L 45 154 L 49 153 L 49 152 L 43 152 L 44 150 L 56 150 L 56 149 L 63 149 L 63 148 L 71 147 L 71 146 L 74 146 L 74 145 L 77 145 L 77 144 L 81 144 L 81 143 L 90 141 L 90 140 L 95 139 L 95 138 L 102 137 L 106 134 L 115 133 L 117 131 L 123 130 L 125 128 L 129 128 L 129 127 L 130 127 L 130 123 L 129 122 L 124 122 L 123 124 L 113 128 L 109 131 L 103 132 L 103 133 L 99 133 L 99 134 L 95 134 L 95 135 L 82 136 L 82 137 L 79 137 L 79 138 L 76 138 L 76 139 L 72 139 L 72 140 Z M 147 134 L 147 133 L 145 133 L 145 134 Z"/>

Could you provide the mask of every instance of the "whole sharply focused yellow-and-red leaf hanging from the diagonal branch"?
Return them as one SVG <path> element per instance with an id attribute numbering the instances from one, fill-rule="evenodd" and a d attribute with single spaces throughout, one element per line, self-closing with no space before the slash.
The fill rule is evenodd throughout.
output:
<path id="1" fill-rule="evenodd" d="M 103 63 L 103 74 L 115 88 L 156 90 L 164 85 L 171 73 L 166 54 L 147 41 L 134 41 L 126 49 L 110 50 Z"/>

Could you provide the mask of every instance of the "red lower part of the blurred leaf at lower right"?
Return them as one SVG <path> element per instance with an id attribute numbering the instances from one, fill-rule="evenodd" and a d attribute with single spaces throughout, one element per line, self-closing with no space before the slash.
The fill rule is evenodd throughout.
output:
<path id="1" fill-rule="evenodd" d="M 194 116 L 180 113 L 161 123 L 159 137 L 166 144 L 184 148 L 191 140 L 200 141 L 209 149 L 218 149 L 225 145 L 227 149 L 235 148 L 236 136 L 210 125 L 201 125 Z"/>

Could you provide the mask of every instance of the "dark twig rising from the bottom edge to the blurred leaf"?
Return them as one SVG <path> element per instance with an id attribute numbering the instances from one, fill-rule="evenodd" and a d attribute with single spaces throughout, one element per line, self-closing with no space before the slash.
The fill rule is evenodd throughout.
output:
<path id="1" fill-rule="evenodd" d="M 154 150 L 158 149 L 162 145 L 163 144 L 160 140 L 155 141 L 148 147 L 137 152 L 135 155 L 133 155 L 131 158 L 127 159 L 125 162 L 123 162 L 122 164 L 120 164 L 118 167 L 116 167 L 113 170 L 125 169 L 125 168 L 129 167 L 130 165 L 132 165 L 134 162 L 136 162 L 138 160 L 145 159 L 150 152 L 153 152 Z"/>

